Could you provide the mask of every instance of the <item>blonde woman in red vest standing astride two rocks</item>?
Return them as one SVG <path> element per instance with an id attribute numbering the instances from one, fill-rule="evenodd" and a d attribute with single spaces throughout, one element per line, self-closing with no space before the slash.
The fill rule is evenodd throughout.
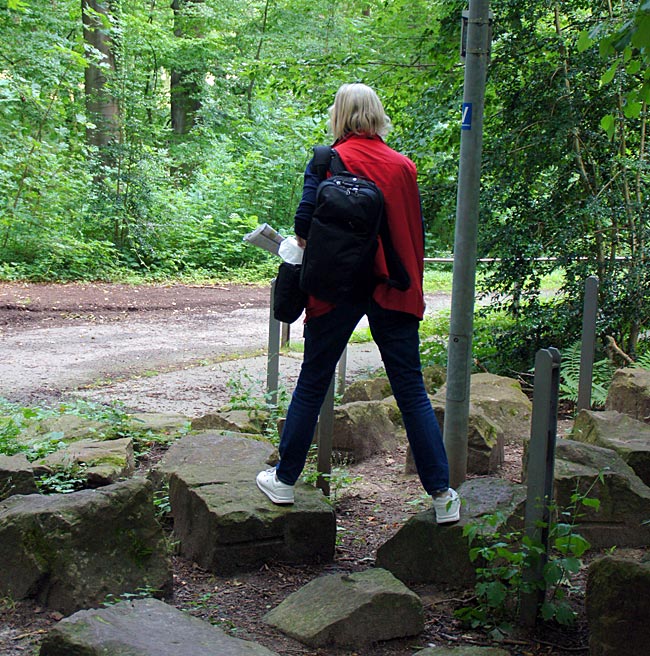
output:
<path id="1" fill-rule="evenodd" d="M 364 84 L 345 84 L 338 90 L 330 108 L 330 124 L 334 148 L 345 168 L 373 180 L 381 189 L 393 245 L 411 282 L 405 291 L 382 282 L 388 278 L 388 268 L 380 244 L 374 290 L 336 305 L 310 297 L 305 355 L 280 438 L 280 462 L 260 472 L 257 485 L 274 503 L 293 503 L 294 484 L 305 465 L 336 364 L 357 323 L 367 315 L 404 419 L 420 481 L 433 498 L 437 522 L 455 522 L 460 517 L 460 499 L 449 487 L 447 455 L 420 365 L 424 227 L 415 165 L 384 143 L 390 121 L 377 94 Z M 303 248 L 320 183 L 312 164 L 313 160 L 305 171 L 303 196 L 295 216 L 296 236 Z"/>

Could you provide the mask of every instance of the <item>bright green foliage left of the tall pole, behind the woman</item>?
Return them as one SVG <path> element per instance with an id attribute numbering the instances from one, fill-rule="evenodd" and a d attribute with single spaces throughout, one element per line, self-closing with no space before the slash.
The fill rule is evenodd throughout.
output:
<path id="1" fill-rule="evenodd" d="M 4 277 L 115 278 L 125 269 L 269 277 L 270 258 L 241 238 L 260 221 L 292 229 L 302 171 L 311 146 L 328 139 L 326 109 L 343 81 L 376 86 L 398 126 L 395 145 L 430 152 L 411 135 L 436 94 L 421 103 L 409 89 L 429 83 L 437 37 L 455 39 L 430 21 L 451 8 L 421 0 L 364 11 L 303 0 L 180 7 L 118 3 L 98 14 L 115 70 L 84 47 L 81 3 L 52 12 L 44 0 L 12 2 L 0 11 Z M 414 22 L 404 25 L 405 15 Z M 105 93 L 118 106 L 113 144 L 87 139 L 101 129 L 84 93 L 89 64 L 107 73 Z M 183 135 L 169 122 L 178 71 L 197 107 Z M 450 71 L 457 86 L 462 76 Z M 453 197 L 453 180 L 443 184 Z"/>

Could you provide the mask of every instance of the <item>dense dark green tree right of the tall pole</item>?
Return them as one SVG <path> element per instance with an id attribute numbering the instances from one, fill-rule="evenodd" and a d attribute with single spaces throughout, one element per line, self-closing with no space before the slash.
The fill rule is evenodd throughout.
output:
<path id="1" fill-rule="evenodd" d="M 648 320 L 645 116 L 626 115 L 622 102 L 635 74 L 620 71 L 616 85 L 602 85 L 597 54 L 577 47 L 601 8 L 507 2 L 498 23 L 481 243 L 485 255 L 502 258 L 486 288 L 518 318 L 514 341 L 528 357 L 579 336 L 590 274 L 600 279 L 603 336 L 634 353 Z M 610 112 L 616 134 L 601 126 Z M 556 261 L 535 259 L 548 257 Z M 556 266 L 566 274 L 564 293 L 549 303 L 539 282 Z"/>

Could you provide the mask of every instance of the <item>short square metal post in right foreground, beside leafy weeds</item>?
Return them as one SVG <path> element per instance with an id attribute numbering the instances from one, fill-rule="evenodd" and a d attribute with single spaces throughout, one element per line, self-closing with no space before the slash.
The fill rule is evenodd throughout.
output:
<path id="1" fill-rule="evenodd" d="M 520 621 L 525 626 L 535 624 L 544 598 L 544 565 L 548 553 L 549 504 L 553 500 L 559 388 L 560 352 L 555 348 L 542 349 L 535 357 L 524 526 L 533 544 L 541 544 L 543 549 L 539 559 L 523 573 L 524 583 L 531 588 L 522 592 L 520 598 Z"/>

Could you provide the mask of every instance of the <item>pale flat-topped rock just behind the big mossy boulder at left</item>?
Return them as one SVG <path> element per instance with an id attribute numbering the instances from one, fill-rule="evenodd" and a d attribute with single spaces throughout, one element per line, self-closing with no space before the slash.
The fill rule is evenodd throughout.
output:
<path id="1" fill-rule="evenodd" d="M 78 440 L 50 453 L 35 464 L 55 471 L 69 469 L 74 465 L 84 466 L 83 475 L 90 487 L 110 485 L 133 475 L 133 440 L 129 437 L 118 440 Z"/>

